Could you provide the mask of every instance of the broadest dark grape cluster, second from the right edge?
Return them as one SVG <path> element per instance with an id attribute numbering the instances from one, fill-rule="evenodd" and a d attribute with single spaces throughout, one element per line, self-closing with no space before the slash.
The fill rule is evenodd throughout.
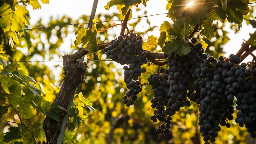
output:
<path id="1" fill-rule="evenodd" d="M 230 55 L 230 58 L 232 60 L 221 56 L 218 61 L 211 56 L 200 66 L 197 65 L 192 74 L 196 92 L 191 92 L 189 98 L 200 103 L 198 124 L 206 144 L 215 141 L 220 131 L 219 125 L 230 127 L 228 120 L 234 118 L 233 100 L 237 90 L 233 87 L 233 71 L 237 70 L 236 64 L 241 59 L 234 55 Z"/>

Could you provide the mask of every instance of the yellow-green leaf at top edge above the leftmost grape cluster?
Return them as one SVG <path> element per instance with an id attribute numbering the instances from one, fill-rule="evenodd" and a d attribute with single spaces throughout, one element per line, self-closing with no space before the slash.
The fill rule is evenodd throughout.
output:
<path id="1" fill-rule="evenodd" d="M 145 6 L 146 1 L 144 0 L 143 4 Z M 112 6 L 117 6 L 118 10 L 120 11 L 121 15 L 124 16 L 129 9 L 132 8 L 133 5 L 141 3 L 141 0 L 110 0 L 107 5 L 104 6 L 106 10 L 109 10 Z M 118 7 L 119 6 L 119 7 Z M 121 6 L 121 7 L 120 7 Z"/>

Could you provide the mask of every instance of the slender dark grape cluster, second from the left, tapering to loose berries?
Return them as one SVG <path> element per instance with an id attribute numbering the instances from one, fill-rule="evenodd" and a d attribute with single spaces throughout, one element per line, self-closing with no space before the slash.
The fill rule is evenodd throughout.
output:
<path id="1" fill-rule="evenodd" d="M 152 85 L 152 90 L 154 92 L 154 98 L 151 100 L 151 107 L 156 108 L 154 110 L 154 115 L 150 119 L 154 122 L 163 121 L 157 129 L 157 133 L 161 133 L 161 138 L 165 138 L 165 133 L 170 133 L 172 117 L 169 116 L 170 107 L 166 107 L 169 99 L 169 85 L 167 84 L 167 79 L 169 76 L 169 71 L 164 68 L 160 68 L 160 72 L 157 74 L 152 74 L 148 78 L 148 82 Z"/>

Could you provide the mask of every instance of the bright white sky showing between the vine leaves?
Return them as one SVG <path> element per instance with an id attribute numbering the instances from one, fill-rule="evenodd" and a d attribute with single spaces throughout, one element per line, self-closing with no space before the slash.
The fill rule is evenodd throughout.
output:
<path id="1" fill-rule="evenodd" d="M 106 10 L 104 6 L 108 3 L 109 0 L 99 0 L 97 9 L 96 9 L 96 15 L 99 13 L 113 13 L 113 12 L 119 12 L 116 7 L 111 7 L 109 10 Z M 168 11 L 165 9 L 167 2 L 166 0 L 150 0 L 147 2 L 147 7 L 144 7 L 142 4 L 139 4 L 139 8 L 142 10 L 147 11 L 147 15 L 154 15 L 154 14 L 160 14 L 160 13 L 167 13 Z M 81 15 L 90 15 L 92 11 L 92 5 L 93 0 L 50 0 L 49 4 L 42 4 L 41 3 L 41 9 L 33 10 L 31 6 L 27 6 L 27 9 L 30 13 L 30 24 L 35 24 L 40 18 L 42 18 L 42 23 L 46 24 L 48 23 L 50 17 L 58 18 L 63 15 L 67 15 L 71 17 L 73 20 L 78 19 Z M 135 8 L 135 7 L 134 7 Z M 132 13 L 132 17 L 135 18 L 138 15 L 136 13 Z M 167 20 L 171 22 L 169 18 L 166 17 L 166 14 L 162 15 L 156 15 L 156 16 L 150 16 L 148 17 L 148 20 L 150 21 L 151 25 L 157 26 L 160 28 L 163 21 Z M 129 23 L 129 22 L 128 22 Z M 137 26 L 136 26 L 137 27 Z M 139 26 L 140 28 L 140 26 Z M 143 28 L 143 25 L 141 25 L 141 28 Z M 224 56 L 229 56 L 230 54 L 236 54 L 236 52 L 240 49 L 241 44 L 244 42 L 244 40 L 249 39 L 249 34 L 253 33 L 256 29 L 252 28 L 252 26 L 246 25 L 245 22 L 242 24 L 242 28 L 240 29 L 240 32 L 237 34 L 234 34 L 234 31 L 231 29 L 228 29 L 230 34 L 228 34 L 228 37 L 230 38 L 230 41 L 223 46 L 223 51 L 226 52 Z M 117 30 L 118 31 L 118 30 Z M 119 31 L 118 31 L 119 33 Z M 118 33 L 116 34 L 118 36 Z M 155 29 L 153 32 L 149 32 L 148 35 L 154 35 L 159 36 L 159 30 Z M 73 42 L 75 40 L 75 35 L 72 34 L 69 37 L 71 40 L 69 42 Z M 145 40 L 146 38 L 144 38 Z M 69 44 L 62 44 L 63 49 L 68 49 Z M 66 46 L 66 47 L 65 47 Z M 68 54 L 68 53 L 64 53 Z M 248 57 L 244 61 L 250 61 L 252 60 L 252 57 Z M 60 66 L 62 66 L 62 63 L 60 62 Z M 61 70 L 59 71 L 61 72 Z"/>

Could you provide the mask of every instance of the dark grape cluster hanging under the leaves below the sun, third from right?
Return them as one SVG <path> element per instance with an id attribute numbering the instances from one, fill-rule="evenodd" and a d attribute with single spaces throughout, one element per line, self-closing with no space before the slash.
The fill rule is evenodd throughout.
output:
<path id="1" fill-rule="evenodd" d="M 188 43 L 191 51 L 187 55 L 180 56 L 172 52 L 166 58 L 169 66 L 167 84 L 169 84 L 170 99 L 167 106 L 171 108 L 170 116 L 179 111 L 180 107 L 191 105 L 187 95 L 191 73 L 194 72 L 196 65 L 200 65 L 208 58 L 208 55 L 204 54 L 203 45 L 201 43 L 194 45 L 197 42 L 196 38 L 192 38 L 192 42 Z"/>

